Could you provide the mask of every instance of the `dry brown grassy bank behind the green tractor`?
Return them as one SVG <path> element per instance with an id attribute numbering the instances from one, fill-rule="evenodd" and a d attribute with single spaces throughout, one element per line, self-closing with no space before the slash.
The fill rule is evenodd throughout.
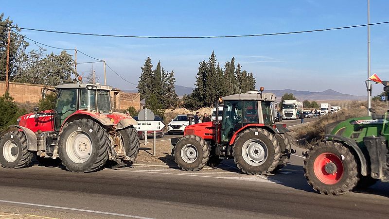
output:
<path id="1" fill-rule="evenodd" d="M 302 148 L 310 148 L 318 140 L 325 135 L 326 125 L 333 122 L 344 121 L 348 118 L 367 116 L 367 103 L 354 101 L 347 110 L 341 110 L 337 113 L 320 117 L 317 121 L 308 124 L 300 129 L 291 131 L 291 135 L 295 136 L 296 141 Z M 386 103 L 372 102 L 372 109 L 379 115 L 385 114 L 387 111 Z"/>

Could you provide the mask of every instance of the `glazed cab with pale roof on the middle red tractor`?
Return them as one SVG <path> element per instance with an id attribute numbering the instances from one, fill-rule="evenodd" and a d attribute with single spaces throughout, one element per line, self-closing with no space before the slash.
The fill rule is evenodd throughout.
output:
<path id="1" fill-rule="evenodd" d="M 238 130 L 252 124 L 272 124 L 274 94 L 249 92 L 221 98 L 224 101 L 221 142 L 230 142 Z"/>

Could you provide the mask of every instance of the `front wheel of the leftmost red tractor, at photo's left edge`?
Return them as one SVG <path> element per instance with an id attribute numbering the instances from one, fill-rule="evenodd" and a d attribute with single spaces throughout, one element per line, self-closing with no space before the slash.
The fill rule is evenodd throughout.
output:
<path id="1" fill-rule="evenodd" d="M 6 154 L 4 154 L 4 152 Z M 24 133 L 14 131 L 0 140 L 0 164 L 4 168 L 24 168 L 31 166 L 33 154 L 27 150 Z"/>

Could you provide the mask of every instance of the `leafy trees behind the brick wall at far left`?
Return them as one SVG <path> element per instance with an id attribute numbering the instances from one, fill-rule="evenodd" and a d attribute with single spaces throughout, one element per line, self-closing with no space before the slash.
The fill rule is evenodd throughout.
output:
<path id="1" fill-rule="evenodd" d="M 7 65 L 8 29 L 17 30 L 18 25 L 4 14 L 0 14 L 0 80 L 5 81 Z M 74 60 L 67 51 L 59 55 L 45 54 L 43 48 L 27 52 L 29 43 L 20 34 L 11 31 L 9 45 L 9 81 L 45 84 L 55 86 L 58 84 L 74 83 L 78 74 L 75 72 Z"/>

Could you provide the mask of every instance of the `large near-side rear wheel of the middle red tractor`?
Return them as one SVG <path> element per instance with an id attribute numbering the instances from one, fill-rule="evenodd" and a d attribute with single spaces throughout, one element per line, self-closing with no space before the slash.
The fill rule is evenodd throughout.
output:
<path id="1" fill-rule="evenodd" d="M 250 159 L 248 157 L 249 155 L 242 154 L 243 148 L 248 147 L 248 145 L 246 145 L 248 141 L 257 141 L 257 144 L 260 145 L 263 151 L 267 152 L 267 155 L 264 155 L 263 161 L 258 161 L 258 163 L 254 160 L 248 161 Z M 251 150 L 252 153 L 258 153 L 257 148 Z M 267 130 L 249 128 L 241 132 L 236 138 L 232 155 L 236 166 L 242 170 L 242 172 L 252 175 L 265 175 L 277 167 L 281 157 L 281 149 L 277 139 Z"/>

